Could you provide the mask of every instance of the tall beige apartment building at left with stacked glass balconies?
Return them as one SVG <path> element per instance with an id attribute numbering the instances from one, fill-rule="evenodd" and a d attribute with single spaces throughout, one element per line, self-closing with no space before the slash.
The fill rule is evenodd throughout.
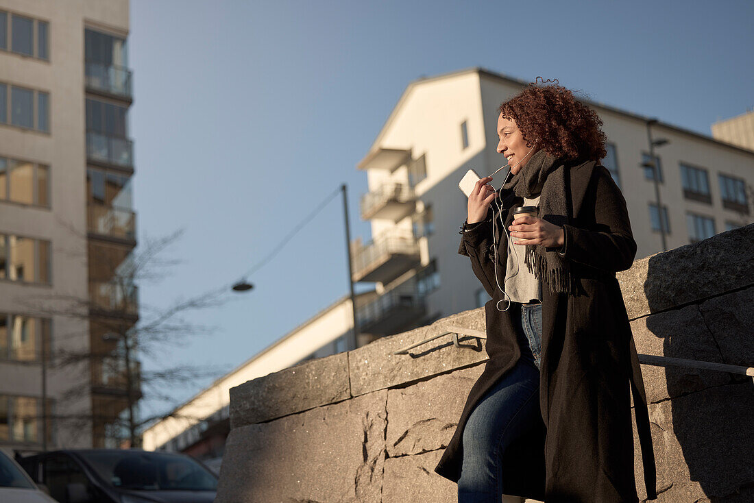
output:
<path id="1" fill-rule="evenodd" d="M 122 437 L 129 387 L 115 334 L 137 319 L 135 286 L 113 281 L 136 246 L 128 26 L 127 0 L 0 0 L 0 445 L 10 449 Z"/>

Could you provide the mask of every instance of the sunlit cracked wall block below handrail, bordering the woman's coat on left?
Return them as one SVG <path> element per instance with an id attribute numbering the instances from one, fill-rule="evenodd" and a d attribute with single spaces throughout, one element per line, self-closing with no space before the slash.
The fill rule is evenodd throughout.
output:
<path id="1" fill-rule="evenodd" d="M 444 448 L 453 436 L 471 386 L 483 365 L 388 390 L 388 436 L 391 457 Z M 434 470 L 434 466 L 432 467 Z"/>

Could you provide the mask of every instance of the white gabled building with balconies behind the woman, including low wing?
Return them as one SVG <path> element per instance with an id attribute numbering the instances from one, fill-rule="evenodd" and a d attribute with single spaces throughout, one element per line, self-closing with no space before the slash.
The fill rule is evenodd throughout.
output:
<path id="1" fill-rule="evenodd" d="M 369 192 L 361 199 L 360 213 L 371 222 L 372 239 L 352 244 L 354 281 L 375 282 L 376 292 L 357 302 L 360 336 L 355 345 L 480 307 L 488 299 L 467 257 L 458 255 L 459 226 L 467 213 L 458 181 L 470 168 L 486 176 L 504 164 L 495 152 L 498 106 L 526 84 L 473 68 L 414 81 L 400 97 L 357 164 L 366 171 Z M 589 104 L 604 121 L 609 143 L 603 164 L 627 200 L 639 247 L 636 258 L 657 253 L 661 235 L 654 179 L 652 170 L 642 167 L 649 158 L 648 118 Z M 655 155 L 661 168 L 668 249 L 752 222 L 751 201 L 745 194 L 741 198 L 739 189 L 744 183 L 754 184 L 754 152 L 662 122 L 651 125 L 651 134 L 655 142 L 667 140 L 656 147 Z M 495 188 L 505 174 L 502 170 L 495 176 Z M 316 355 L 325 356 L 353 348 L 351 342 L 321 348 L 323 337 L 336 340 L 353 322 L 350 302 L 347 308 L 342 304 L 339 321 L 317 323 L 318 318 L 326 321 L 329 313 L 323 311 L 303 326 L 321 330 L 317 336 L 297 329 L 279 344 L 297 341 L 297 357 L 302 351 L 319 349 Z M 227 405 L 230 387 L 296 363 L 290 358 L 262 365 L 277 347 L 278 343 L 256 355 L 189 405 L 207 397 L 213 406 L 203 410 L 210 416 L 213 407 Z M 187 426 L 173 419 L 158 423 L 146 432 L 145 446 L 192 452 L 201 429 L 211 426 Z"/>

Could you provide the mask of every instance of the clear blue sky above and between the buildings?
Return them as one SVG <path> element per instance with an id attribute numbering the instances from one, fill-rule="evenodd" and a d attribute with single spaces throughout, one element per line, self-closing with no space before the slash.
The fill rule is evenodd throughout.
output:
<path id="1" fill-rule="evenodd" d="M 369 238 L 358 216 L 366 175 L 355 165 L 422 75 L 483 66 L 558 78 L 709 134 L 754 106 L 752 19 L 749 0 L 131 0 L 138 235 L 185 229 L 170 248 L 182 262 L 142 284 L 141 302 L 164 306 L 238 279 L 343 182 L 351 234 Z M 249 281 L 254 290 L 188 318 L 217 327 L 213 336 L 187 339 L 159 363 L 231 370 L 347 294 L 341 200 Z"/>

